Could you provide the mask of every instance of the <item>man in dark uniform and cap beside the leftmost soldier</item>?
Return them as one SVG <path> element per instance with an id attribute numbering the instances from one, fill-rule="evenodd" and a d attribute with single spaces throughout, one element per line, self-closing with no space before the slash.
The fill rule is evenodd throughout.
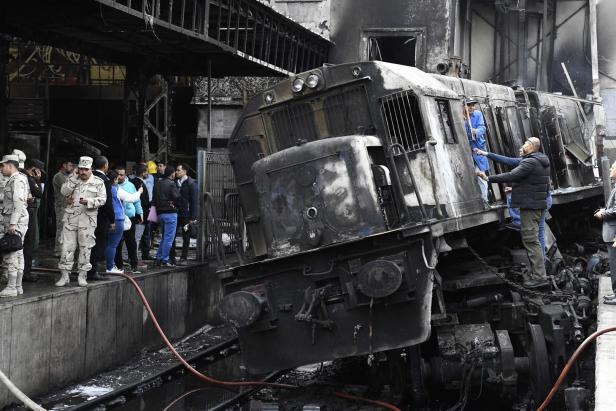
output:
<path id="1" fill-rule="evenodd" d="M 43 198 L 41 177 L 45 163 L 41 160 L 26 160 L 25 174 L 28 178 L 30 195 L 28 196 L 28 232 L 24 237 L 24 281 L 37 281 L 38 276 L 32 272 L 34 250 L 38 247 L 38 209 Z M 20 170 L 21 171 L 21 170 Z"/>

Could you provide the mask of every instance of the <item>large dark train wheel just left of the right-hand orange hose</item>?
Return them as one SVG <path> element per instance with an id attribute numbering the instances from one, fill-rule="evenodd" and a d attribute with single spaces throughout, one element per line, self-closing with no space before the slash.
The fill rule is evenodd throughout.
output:
<path id="1" fill-rule="evenodd" d="M 528 372 L 530 376 L 530 389 L 535 402 L 539 403 L 546 397 L 552 384 L 548 349 L 545 344 L 545 336 L 541 326 L 529 324 L 528 332 Z"/>

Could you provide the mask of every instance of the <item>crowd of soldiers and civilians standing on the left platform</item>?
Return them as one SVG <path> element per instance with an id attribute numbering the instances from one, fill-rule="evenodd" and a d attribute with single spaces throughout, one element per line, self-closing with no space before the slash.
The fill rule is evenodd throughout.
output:
<path id="1" fill-rule="evenodd" d="M 45 164 L 27 160 L 13 150 L 0 161 L 0 210 L 3 249 L 2 272 L 8 277 L 0 297 L 23 293 L 22 281 L 37 281 L 32 271 L 38 247 L 38 208 L 43 198 Z M 70 272 L 78 272 L 78 284 L 104 280 L 106 274 L 125 272 L 123 247 L 128 255 L 127 271 L 138 273 L 141 260 L 156 260 L 161 267 L 174 267 L 176 231 L 181 231 L 179 264 L 188 259 L 190 238 L 196 235 L 199 218 L 196 181 L 188 176 L 187 164 L 177 167 L 140 162 L 129 176 L 125 166 L 109 167 L 104 156 L 65 161 L 53 176 L 56 217 L 54 255 L 59 257 L 60 278 L 56 286 L 70 283 Z M 155 257 L 150 255 L 153 233 L 161 241 Z M 75 262 L 77 259 L 77 262 Z M 99 261 L 105 270 L 99 272 Z"/>

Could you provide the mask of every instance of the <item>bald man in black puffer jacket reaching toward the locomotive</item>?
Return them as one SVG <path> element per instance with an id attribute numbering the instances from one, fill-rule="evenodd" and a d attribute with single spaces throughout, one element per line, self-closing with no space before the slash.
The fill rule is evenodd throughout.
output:
<path id="1" fill-rule="evenodd" d="M 530 137 L 520 149 L 522 161 L 508 173 L 486 177 L 488 183 L 510 183 L 511 206 L 520 209 L 522 244 L 530 261 L 529 278 L 526 287 L 540 287 L 547 284 L 543 252 L 539 244 L 538 231 L 541 213 L 547 208 L 547 192 L 550 186 L 550 161 L 539 152 L 541 142 Z"/>

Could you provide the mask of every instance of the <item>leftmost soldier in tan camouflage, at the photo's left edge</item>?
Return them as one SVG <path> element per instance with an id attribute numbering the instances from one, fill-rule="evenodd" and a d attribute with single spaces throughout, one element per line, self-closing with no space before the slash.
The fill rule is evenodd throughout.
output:
<path id="1" fill-rule="evenodd" d="M 2 204 L 4 230 L 0 235 L 18 234 L 23 241 L 28 230 L 28 179 L 18 170 L 19 158 L 17 156 L 6 155 L 2 158 L 0 164 L 3 164 L 2 174 L 8 177 L 4 186 Z M 23 250 L 4 254 L 3 261 L 8 271 L 9 281 L 4 290 L 0 292 L 0 297 L 16 297 L 23 294 L 24 291 L 21 286 L 24 275 Z"/>

